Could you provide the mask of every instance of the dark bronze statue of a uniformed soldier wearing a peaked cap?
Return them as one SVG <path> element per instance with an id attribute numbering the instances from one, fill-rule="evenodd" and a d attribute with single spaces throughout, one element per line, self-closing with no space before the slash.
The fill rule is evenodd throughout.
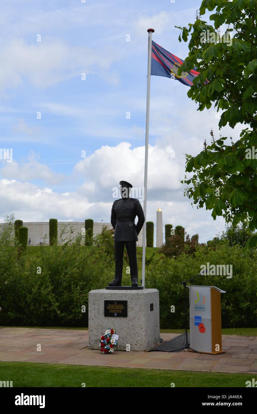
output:
<path id="1" fill-rule="evenodd" d="M 111 224 L 114 228 L 115 278 L 109 286 L 121 286 L 124 245 L 128 253 L 131 286 L 138 286 L 136 242 L 143 227 L 145 216 L 137 198 L 129 197 L 132 184 L 120 181 L 121 198 L 112 205 Z M 138 222 L 135 224 L 135 218 Z"/>

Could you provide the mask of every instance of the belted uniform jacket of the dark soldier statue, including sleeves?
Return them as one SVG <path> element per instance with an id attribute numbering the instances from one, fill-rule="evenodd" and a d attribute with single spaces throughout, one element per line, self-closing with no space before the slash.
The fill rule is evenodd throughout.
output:
<path id="1" fill-rule="evenodd" d="M 111 214 L 111 223 L 115 229 L 114 241 L 138 241 L 144 221 L 143 208 L 137 198 L 120 198 L 114 201 Z"/>

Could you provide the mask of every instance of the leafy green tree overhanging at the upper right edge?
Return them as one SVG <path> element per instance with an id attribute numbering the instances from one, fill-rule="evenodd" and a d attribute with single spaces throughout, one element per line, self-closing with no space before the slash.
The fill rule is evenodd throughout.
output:
<path id="1" fill-rule="evenodd" d="M 222 110 L 219 127 L 227 123 L 234 128 L 245 124 L 239 139 L 224 143 L 227 137 L 215 140 L 197 156 L 186 154 L 186 172 L 193 176 L 181 181 L 187 185 L 184 195 L 197 208 L 212 210 L 212 217 L 223 216 L 236 226 L 250 219 L 250 230 L 257 229 L 257 160 L 250 152 L 257 146 L 257 3 L 255 0 L 203 0 L 200 16 L 214 9 L 209 19 L 214 26 L 196 19 L 189 28 L 181 29 L 182 39 L 189 41 L 189 54 L 178 70 L 194 67 L 199 75 L 188 91 L 188 97 L 199 103 L 198 110 Z M 224 41 L 220 27 L 228 24 L 225 35 L 231 31 L 233 39 Z M 208 32 L 209 31 L 209 32 Z M 208 39 L 209 34 L 209 39 Z M 216 38 L 216 43 L 210 39 Z M 228 37 L 226 37 L 228 39 Z M 181 35 L 179 36 L 181 41 Z M 231 45 L 231 46 L 230 46 Z M 252 159 L 251 159 L 252 158 Z M 247 242 L 257 244 L 257 235 Z"/>

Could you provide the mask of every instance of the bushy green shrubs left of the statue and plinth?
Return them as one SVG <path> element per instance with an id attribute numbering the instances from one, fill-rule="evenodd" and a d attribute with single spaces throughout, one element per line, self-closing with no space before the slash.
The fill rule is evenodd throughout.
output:
<path id="1" fill-rule="evenodd" d="M 0 249 L 0 325 L 88 326 L 88 292 L 114 278 L 114 242 L 106 227 L 90 247 L 81 238 L 44 246 L 26 261 L 15 246 Z"/>

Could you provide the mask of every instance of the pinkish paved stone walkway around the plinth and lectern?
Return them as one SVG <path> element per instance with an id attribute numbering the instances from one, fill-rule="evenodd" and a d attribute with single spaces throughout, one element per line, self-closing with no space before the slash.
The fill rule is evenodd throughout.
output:
<path id="1" fill-rule="evenodd" d="M 178 334 L 161 334 L 165 341 Z M 41 351 L 37 351 L 37 345 Z M 159 368 L 185 371 L 257 372 L 257 337 L 223 335 L 225 354 L 194 352 L 126 352 L 103 355 L 88 349 L 87 330 L 2 328 L 0 361 Z"/>

